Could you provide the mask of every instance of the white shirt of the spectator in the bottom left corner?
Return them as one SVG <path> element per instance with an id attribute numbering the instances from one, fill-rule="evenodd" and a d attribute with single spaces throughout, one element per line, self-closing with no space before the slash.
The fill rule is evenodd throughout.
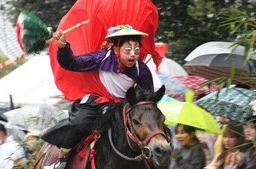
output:
<path id="1" fill-rule="evenodd" d="M 0 169 L 11 169 L 14 167 L 14 158 L 24 158 L 25 151 L 13 136 L 9 136 L 5 143 L 0 145 Z"/>

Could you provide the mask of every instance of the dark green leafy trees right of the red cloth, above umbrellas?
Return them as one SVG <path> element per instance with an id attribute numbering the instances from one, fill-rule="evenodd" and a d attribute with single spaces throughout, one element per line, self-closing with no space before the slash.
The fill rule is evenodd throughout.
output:
<path id="1" fill-rule="evenodd" d="M 157 41 L 169 44 L 166 53 L 181 65 L 184 58 L 200 44 L 209 41 L 233 41 L 230 29 L 221 27 L 221 14 L 232 15 L 231 9 L 253 14 L 255 2 L 173 0 L 153 1 L 159 10 Z"/>

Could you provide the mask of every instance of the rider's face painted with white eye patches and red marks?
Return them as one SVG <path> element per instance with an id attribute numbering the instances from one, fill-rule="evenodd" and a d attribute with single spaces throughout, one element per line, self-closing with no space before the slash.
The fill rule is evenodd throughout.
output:
<path id="1" fill-rule="evenodd" d="M 120 47 L 119 62 L 125 67 L 132 67 L 139 59 L 139 41 L 128 41 Z"/>

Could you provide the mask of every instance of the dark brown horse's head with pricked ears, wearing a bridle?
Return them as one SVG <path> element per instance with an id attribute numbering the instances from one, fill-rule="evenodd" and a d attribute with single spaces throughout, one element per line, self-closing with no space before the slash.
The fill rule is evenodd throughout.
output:
<path id="1" fill-rule="evenodd" d="M 164 125 L 165 116 L 157 108 L 157 101 L 163 97 L 165 86 L 154 94 L 130 88 L 126 92 L 126 107 L 123 121 L 127 140 L 135 151 L 142 151 L 154 167 L 166 167 L 170 161 L 171 146 L 169 132 Z"/>

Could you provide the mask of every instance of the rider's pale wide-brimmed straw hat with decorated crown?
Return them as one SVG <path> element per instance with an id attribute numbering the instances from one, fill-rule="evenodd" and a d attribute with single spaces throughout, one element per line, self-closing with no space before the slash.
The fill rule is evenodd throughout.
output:
<path id="1" fill-rule="evenodd" d="M 139 32 L 133 29 L 130 25 L 125 26 L 114 26 L 108 29 L 108 35 L 105 37 L 106 40 L 111 40 L 111 38 L 118 36 L 129 36 L 129 35 L 141 35 L 142 38 L 148 37 L 148 34 L 144 32 Z"/>

